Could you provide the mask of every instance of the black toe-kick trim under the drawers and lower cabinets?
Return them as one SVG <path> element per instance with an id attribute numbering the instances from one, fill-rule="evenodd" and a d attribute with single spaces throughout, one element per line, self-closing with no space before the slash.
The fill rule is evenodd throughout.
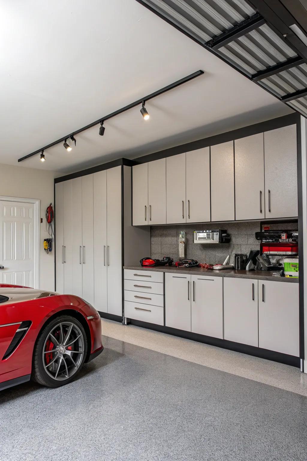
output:
<path id="1" fill-rule="evenodd" d="M 211 346 L 234 350 L 235 352 L 241 352 L 242 354 L 253 355 L 254 357 L 260 357 L 261 359 L 272 360 L 274 362 L 284 363 L 285 365 L 296 366 L 297 368 L 301 367 L 300 358 L 295 357 L 294 355 L 282 354 L 280 352 L 261 349 L 247 344 L 234 343 L 226 339 L 199 335 L 198 333 L 191 333 L 190 331 L 177 330 L 176 328 L 171 328 L 169 326 L 141 322 L 140 320 L 130 319 L 130 324 L 141 326 L 142 328 L 148 328 L 150 330 L 160 331 L 169 335 L 179 336 L 185 339 L 191 339 L 192 341 L 198 341 L 198 343 L 210 344 Z"/>

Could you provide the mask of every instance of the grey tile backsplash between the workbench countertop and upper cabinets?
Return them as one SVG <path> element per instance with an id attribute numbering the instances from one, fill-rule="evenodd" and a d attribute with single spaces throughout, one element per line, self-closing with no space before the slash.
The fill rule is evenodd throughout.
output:
<path id="1" fill-rule="evenodd" d="M 201 229 L 226 229 L 231 235 L 230 243 L 201 244 L 193 243 L 193 231 Z M 297 229 L 297 223 L 270 224 L 270 229 Z M 201 263 L 221 264 L 230 254 L 230 264 L 234 263 L 235 253 L 249 254 L 249 251 L 260 248 L 255 239 L 255 232 L 260 231 L 257 221 L 235 223 L 205 223 L 151 226 L 151 257 L 161 259 L 170 256 L 179 259 L 179 234 L 185 231 L 185 255 L 187 259 L 195 259 Z"/>

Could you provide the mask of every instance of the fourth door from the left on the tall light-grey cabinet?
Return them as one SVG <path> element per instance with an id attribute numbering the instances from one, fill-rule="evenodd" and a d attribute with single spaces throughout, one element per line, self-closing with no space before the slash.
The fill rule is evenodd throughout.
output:
<path id="1" fill-rule="evenodd" d="M 93 175 L 82 176 L 82 297 L 94 304 Z"/>

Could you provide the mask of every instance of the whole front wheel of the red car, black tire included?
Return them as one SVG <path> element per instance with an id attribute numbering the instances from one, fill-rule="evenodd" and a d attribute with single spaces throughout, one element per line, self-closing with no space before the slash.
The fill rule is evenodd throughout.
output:
<path id="1" fill-rule="evenodd" d="M 75 317 L 60 315 L 37 338 L 31 377 L 43 386 L 63 386 L 78 376 L 86 356 L 87 335 L 82 324 Z"/>

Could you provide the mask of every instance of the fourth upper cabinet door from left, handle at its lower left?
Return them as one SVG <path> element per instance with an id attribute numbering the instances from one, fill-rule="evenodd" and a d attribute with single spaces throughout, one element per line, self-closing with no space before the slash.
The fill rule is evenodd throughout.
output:
<path id="1" fill-rule="evenodd" d="M 210 221 L 210 148 L 185 154 L 186 222 Z"/>

